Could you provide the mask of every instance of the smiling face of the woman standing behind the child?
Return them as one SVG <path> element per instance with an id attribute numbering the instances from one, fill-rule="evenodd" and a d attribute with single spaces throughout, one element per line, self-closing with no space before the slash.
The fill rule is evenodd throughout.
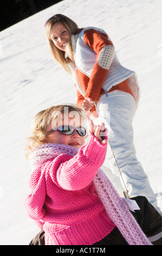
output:
<path id="1" fill-rule="evenodd" d="M 68 29 L 60 22 L 56 22 L 50 29 L 50 38 L 54 45 L 61 51 L 66 51 L 66 46 L 70 39 Z"/>

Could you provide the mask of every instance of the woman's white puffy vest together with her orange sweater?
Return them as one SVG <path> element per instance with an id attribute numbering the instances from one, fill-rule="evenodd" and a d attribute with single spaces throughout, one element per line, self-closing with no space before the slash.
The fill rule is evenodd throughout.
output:
<path id="1" fill-rule="evenodd" d="M 81 106 L 85 97 L 98 101 L 101 94 L 120 89 L 131 93 L 138 106 L 137 76 L 120 64 L 106 32 L 94 27 L 79 32 L 72 35 L 75 65 L 69 64 L 77 88 L 77 104 Z"/>

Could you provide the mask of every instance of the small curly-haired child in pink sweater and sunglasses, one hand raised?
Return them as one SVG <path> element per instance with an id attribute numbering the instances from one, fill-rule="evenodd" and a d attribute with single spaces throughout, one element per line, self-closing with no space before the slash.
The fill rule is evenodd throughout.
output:
<path id="1" fill-rule="evenodd" d="M 107 149 L 100 136 L 103 124 L 89 124 L 85 144 L 81 109 L 61 105 L 36 115 L 26 149 L 33 166 L 31 194 L 25 199 L 28 215 L 44 230 L 46 245 L 151 245 L 146 235 L 162 230 L 161 216 L 144 199 L 147 214 L 140 210 L 139 222 L 145 235 L 132 215 L 138 214 L 129 212 L 99 169 Z"/>

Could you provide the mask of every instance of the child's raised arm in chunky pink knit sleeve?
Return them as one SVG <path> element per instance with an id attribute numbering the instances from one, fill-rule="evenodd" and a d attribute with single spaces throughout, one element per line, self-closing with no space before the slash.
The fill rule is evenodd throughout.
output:
<path id="1" fill-rule="evenodd" d="M 100 143 L 90 133 L 90 141 L 83 145 L 74 157 L 64 154 L 57 157 L 57 161 L 63 163 L 57 165 L 55 161 L 51 165 L 50 176 L 65 190 L 81 190 L 94 179 L 105 160 L 106 150 L 107 143 Z M 66 161 L 63 161 L 65 157 Z"/>

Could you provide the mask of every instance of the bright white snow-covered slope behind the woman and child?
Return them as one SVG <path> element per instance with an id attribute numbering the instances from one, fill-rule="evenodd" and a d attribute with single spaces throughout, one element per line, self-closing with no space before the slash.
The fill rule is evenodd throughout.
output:
<path id="1" fill-rule="evenodd" d="M 76 102 L 72 78 L 54 63 L 44 32 L 56 13 L 79 27 L 105 29 L 121 64 L 137 72 L 141 97 L 134 143 L 162 210 L 161 9 L 161 0 L 64 0 L 0 33 L 2 245 L 28 245 L 39 231 L 24 209 L 31 168 L 23 149 L 31 121 L 44 108 Z"/>

